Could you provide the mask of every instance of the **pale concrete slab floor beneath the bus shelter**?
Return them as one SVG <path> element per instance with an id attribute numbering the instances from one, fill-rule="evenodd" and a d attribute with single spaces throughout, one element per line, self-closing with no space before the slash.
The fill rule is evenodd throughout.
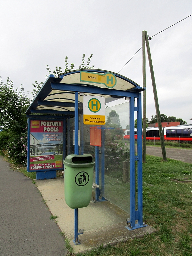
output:
<path id="1" fill-rule="evenodd" d="M 84 234 L 79 235 L 81 244 L 75 245 L 74 238 L 74 209 L 65 203 L 64 179 L 36 180 L 36 186 L 42 193 L 47 206 L 53 215 L 57 215 L 57 224 L 70 240 L 75 253 L 85 252 L 107 244 L 125 242 L 134 237 L 154 233 L 150 226 L 129 231 L 125 228 L 127 212 L 124 212 L 109 201 L 93 203 L 79 209 L 79 229 L 84 228 Z"/>

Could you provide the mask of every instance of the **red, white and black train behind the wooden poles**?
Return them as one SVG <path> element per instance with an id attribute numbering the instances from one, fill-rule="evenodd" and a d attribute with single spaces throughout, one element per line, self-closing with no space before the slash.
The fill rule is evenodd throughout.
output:
<path id="1" fill-rule="evenodd" d="M 143 130 L 142 130 L 143 133 Z M 163 127 L 164 140 L 190 140 L 192 141 L 192 124 L 184 124 L 177 126 Z M 125 130 L 123 138 L 130 138 L 130 131 Z M 135 139 L 137 139 L 137 129 L 135 129 Z M 146 140 L 160 140 L 159 128 L 148 127 L 146 128 Z"/>

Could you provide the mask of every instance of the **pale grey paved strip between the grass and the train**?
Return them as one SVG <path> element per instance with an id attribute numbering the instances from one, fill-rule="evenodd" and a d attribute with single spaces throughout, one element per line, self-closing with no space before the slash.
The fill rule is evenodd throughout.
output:
<path id="1" fill-rule="evenodd" d="M 161 147 L 146 146 L 146 154 L 162 157 Z M 192 149 L 166 148 L 167 158 L 192 164 Z"/>

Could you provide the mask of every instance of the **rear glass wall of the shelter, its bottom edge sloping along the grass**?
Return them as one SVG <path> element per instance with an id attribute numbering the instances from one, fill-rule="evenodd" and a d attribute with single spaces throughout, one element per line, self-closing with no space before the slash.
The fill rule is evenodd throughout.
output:
<path id="1" fill-rule="evenodd" d="M 124 130 L 129 129 L 129 101 L 116 99 L 106 104 L 104 142 L 105 176 L 102 196 L 130 212 L 129 184 L 129 139 L 124 139 Z M 104 128 L 104 127 L 103 127 Z M 101 156 L 102 158 L 102 156 Z"/>

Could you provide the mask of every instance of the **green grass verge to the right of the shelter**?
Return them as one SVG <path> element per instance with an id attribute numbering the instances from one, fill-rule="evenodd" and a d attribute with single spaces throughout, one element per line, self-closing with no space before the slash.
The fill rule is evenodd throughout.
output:
<path id="1" fill-rule="evenodd" d="M 192 183 L 172 178 L 192 178 L 192 164 L 147 156 L 143 164 L 143 219 L 157 233 L 107 246 L 81 256 L 192 256 Z"/>

